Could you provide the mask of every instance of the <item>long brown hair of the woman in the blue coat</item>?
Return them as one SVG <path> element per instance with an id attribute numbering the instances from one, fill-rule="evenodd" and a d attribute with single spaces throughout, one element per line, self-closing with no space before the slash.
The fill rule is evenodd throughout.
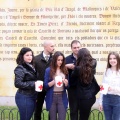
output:
<path id="1" fill-rule="evenodd" d="M 51 61 L 51 65 L 50 65 L 50 77 L 51 78 L 53 78 L 53 76 L 56 73 L 56 70 L 57 70 L 57 58 L 59 56 L 63 57 L 63 63 L 60 66 L 61 72 L 63 72 L 63 74 L 65 74 L 65 75 L 68 74 L 67 68 L 65 67 L 65 57 L 64 57 L 63 53 L 61 53 L 59 51 L 56 51 L 55 54 L 52 57 L 52 61 Z"/>

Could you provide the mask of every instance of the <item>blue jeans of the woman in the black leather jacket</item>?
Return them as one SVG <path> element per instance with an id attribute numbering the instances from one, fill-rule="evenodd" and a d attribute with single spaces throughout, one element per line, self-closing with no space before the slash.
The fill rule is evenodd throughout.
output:
<path id="1" fill-rule="evenodd" d="M 20 112 L 20 120 L 30 120 L 35 110 L 37 93 L 24 95 L 17 92 L 15 101 Z"/>

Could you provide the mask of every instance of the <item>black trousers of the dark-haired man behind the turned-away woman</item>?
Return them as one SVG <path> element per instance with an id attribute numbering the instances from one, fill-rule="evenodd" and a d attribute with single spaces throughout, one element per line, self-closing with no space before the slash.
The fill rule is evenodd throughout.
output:
<path id="1" fill-rule="evenodd" d="M 78 100 L 76 88 L 68 89 L 68 100 L 70 107 L 70 120 L 78 120 Z"/>

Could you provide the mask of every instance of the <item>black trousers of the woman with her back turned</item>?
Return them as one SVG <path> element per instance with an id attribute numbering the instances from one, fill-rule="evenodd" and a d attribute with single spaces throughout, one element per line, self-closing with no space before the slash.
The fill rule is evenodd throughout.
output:
<path id="1" fill-rule="evenodd" d="M 80 120 L 88 120 L 91 107 L 95 103 L 96 98 L 91 98 L 91 99 L 82 99 L 79 100 L 79 110 L 80 110 Z"/>

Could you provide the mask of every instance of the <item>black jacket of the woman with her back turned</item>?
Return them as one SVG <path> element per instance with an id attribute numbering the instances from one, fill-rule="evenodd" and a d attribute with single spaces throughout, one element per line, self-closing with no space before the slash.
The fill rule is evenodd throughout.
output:
<path id="1" fill-rule="evenodd" d="M 86 84 L 81 80 L 79 75 L 80 66 L 76 66 L 74 71 L 72 72 L 71 77 L 73 78 L 72 80 L 74 81 L 71 81 L 71 82 L 76 83 L 76 88 L 77 88 L 76 92 L 77 92 L 78 98 L 80 99 L 89 99 L 89 98 L 95 97 L 97 92 L 100 90 L 100 87 L 98 86 L 97 81 L 94 77 L 94 74 L 96 73 L 96 64 L 97 64 L 96 60 L 93 59 L 93 75 L 90 78 L 91 82 L 89 84 Z M 94 85 L 91 83 L 93 83 Z"/>

